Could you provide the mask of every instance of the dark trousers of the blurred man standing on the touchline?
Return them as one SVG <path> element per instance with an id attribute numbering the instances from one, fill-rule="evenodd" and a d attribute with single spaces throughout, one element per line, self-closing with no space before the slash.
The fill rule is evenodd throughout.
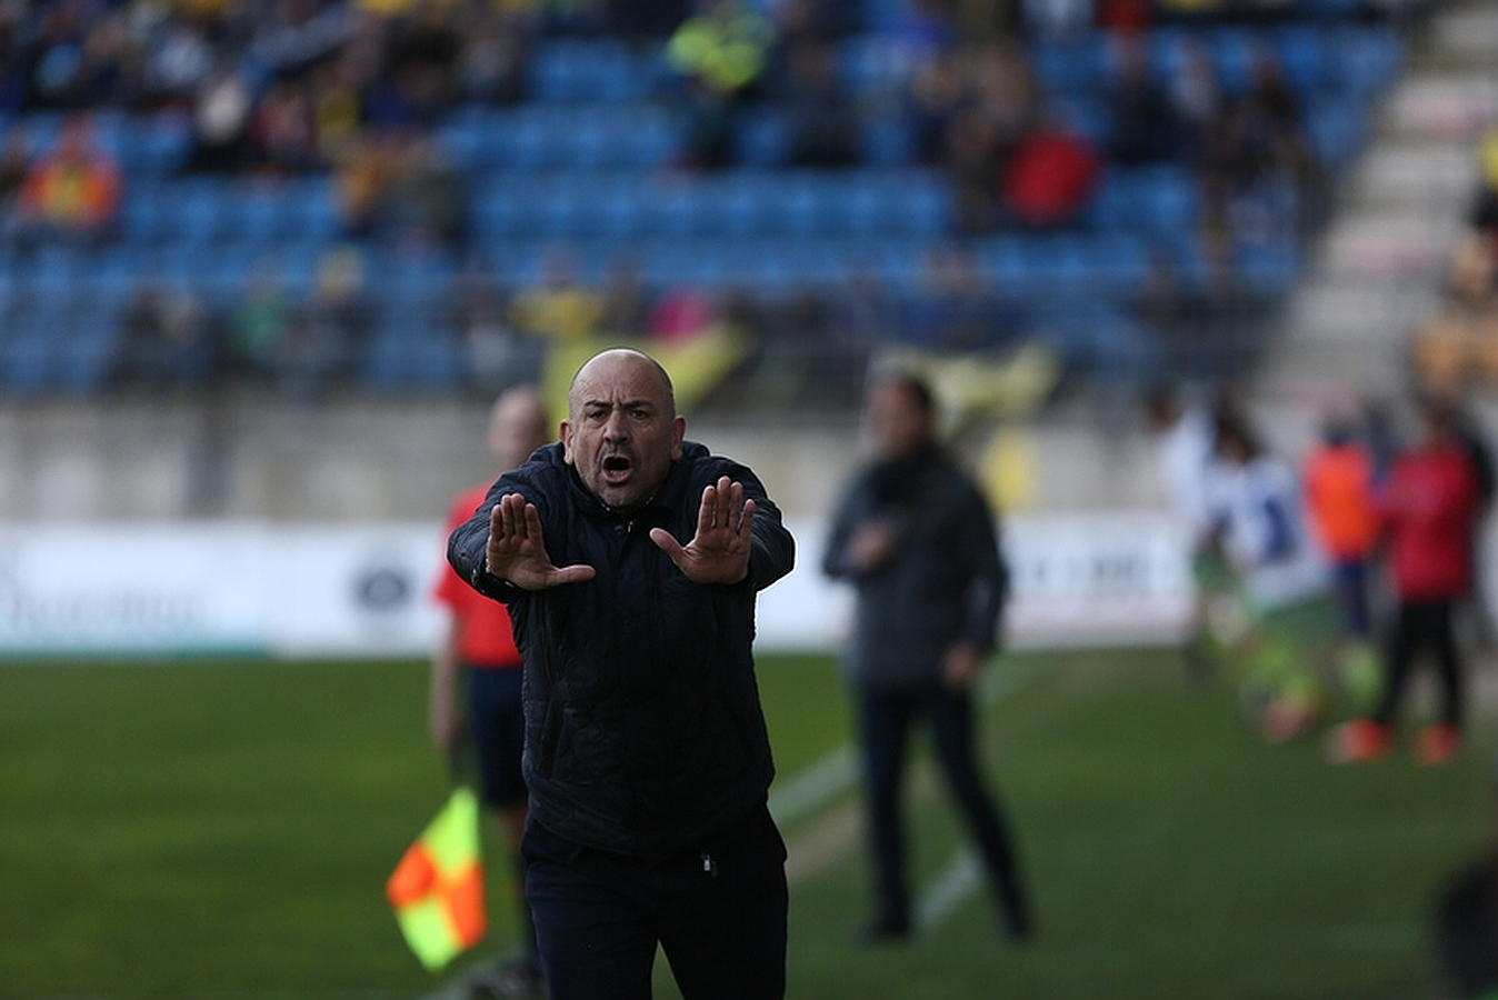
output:
<path id="1" fill-rule="evenodd" d="M 921 717 L 930 726 L 942 774 L 983 855 L 1007 930 L 1022 934 L 1029 930 L 1029 904 L 1004 813 L 984 787 L 972 753 L 972 699 L 939 684 L 911 692 L 858 692 L 879 916 L 909 919 L 900 786 L 909 732 Z"/>

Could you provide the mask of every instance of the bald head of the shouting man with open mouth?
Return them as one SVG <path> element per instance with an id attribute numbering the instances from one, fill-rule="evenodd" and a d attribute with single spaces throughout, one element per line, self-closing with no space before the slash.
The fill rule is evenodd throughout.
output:
<path id="1" fill-rule="evenodd" d="M 631 509 L 665 482 L 685 433 L 661 362 L 620 347 L 595 355 L 574 376 L 562 455 L 595 497 Z"/>

